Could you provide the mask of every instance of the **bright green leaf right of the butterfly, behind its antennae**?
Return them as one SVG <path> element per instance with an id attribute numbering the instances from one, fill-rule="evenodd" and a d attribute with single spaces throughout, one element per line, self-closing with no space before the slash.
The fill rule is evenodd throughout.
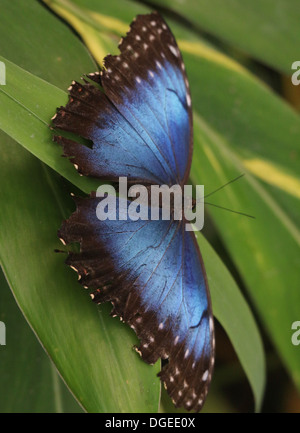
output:
<path id="1" fill-rule="evenodd" d="M 209 191 L 246 169 L 224 137 L 195 116 L 192 180 Z M 261 320 L 295 384 L 300 386 L 300 352 L 291 344 L 291 324 L 299 314 L 300 235 L 297 227 L 264 187 L 249 173 L 207 201 L 255 215 L 255 220 L 210 209 Z"/>

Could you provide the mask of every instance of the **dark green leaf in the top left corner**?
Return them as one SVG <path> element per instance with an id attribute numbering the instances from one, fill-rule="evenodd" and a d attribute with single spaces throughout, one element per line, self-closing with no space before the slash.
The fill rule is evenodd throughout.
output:
<path id="1" fill-rule="evenodd" d="M 96 68 L 79 38 L 38 0 L 1 0 L 0 55 L 66 89 Z"/>

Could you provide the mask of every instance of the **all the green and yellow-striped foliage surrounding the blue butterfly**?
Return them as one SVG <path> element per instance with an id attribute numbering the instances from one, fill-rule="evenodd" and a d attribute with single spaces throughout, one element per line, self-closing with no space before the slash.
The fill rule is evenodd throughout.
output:
<path id="1" fill-rule="evenodd" d="M 256 219 L 208 206 L 206 239 L 199 234 L 198 242 L 220 324 L 217 346 L 222 347 L 221 338 L 226 341 L 223 328 L 259 410 L 265 386 L 262 337 L 300 388 L 300 351 L 291 344 L 300 305 L 300 121 L 276 92 L 282 72 L 288 73 L 297 59 L 299 8 L 284 0 L 277 0 L 276 10 L 269 0 L 227 3 L 226 19 L 216 12 L 223 9 L 220 0 L 164 0 L 157 7 L 163 7 L 190 79 L 191 181 L 204 184 L 208 193 L 245 173 L 211 201 Z M 0 86 L 0 260 L 14 298 L 2 278 L 0 320 L 7 322 L 10 315 L 11 325 L 7 346 L 0 347 L 5 371 L 0 389 L 6 390 L 0 410 L 81 411 L 54 363 L 88 412 L 157 411 L 160 366 L 139 359 L 132 350 L 134 333 L 109 317 L 110 306 L 97 309 L 64 266 L 64 256 L 54 253 L 61 248 L 57 229 L 73 209 L 69 193 L 89 192 L 97 183 L 79 177 L 61 158 L 48 128 L 56 107 L 67 101 L 70 82 L 97 70 L 106 53 L 116 53 L 132 18 L 149 8 L 124 0 L 2 0 L 2 5 L 0 40 L 6 43 L 0 60 L 7 83 Z M 19 345 L 16 339 L 10 343 L 10 326 L 20 335 Z M 21 345 L 20 362 L 12 362 Z M 28 374 L 19 386 L 24 365 Z M 244 373 L 229 371 L 230 388 Z M 228 365 L 217 351 L 215 384 L 204 410 L 235 410 L 223 402 L 226 372 Z M 32 388 L 37 380 L 43 386 Z M 30 392 L 34 398 L 28 401 Z M 168 404 L 165 399 L 160 410 L 169 411 Z"/>

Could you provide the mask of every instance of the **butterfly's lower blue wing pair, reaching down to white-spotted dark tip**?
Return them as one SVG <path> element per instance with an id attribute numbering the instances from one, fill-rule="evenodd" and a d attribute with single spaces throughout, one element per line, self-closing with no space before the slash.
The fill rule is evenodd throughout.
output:
<path id="1" fill-rule="evenodd" d="M 211 379 L 214 332 L 195 236 L 183 221 L 99 221 L 100 200 L 76 199 L 59 232 L 65 243 L 81 245 L 67 263 L 96 303 L 111 301 L 112 314 L 135 330 L 146 362 L 168 359 L 160 377 L 174 404 L 198 411 Z"/>

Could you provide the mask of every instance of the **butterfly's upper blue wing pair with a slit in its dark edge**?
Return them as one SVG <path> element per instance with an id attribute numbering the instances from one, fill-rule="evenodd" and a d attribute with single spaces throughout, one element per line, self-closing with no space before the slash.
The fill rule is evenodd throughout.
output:
<path id="1" fill-rule="evenodd" d="M 156 13 L 141 15 L 105 69 L 73 82 L 53 125 L 92 141 L 92 148 L 57 136 L 83 175 L 106 180 L 183 184 L 192 155 L 191 97 L 176 41 Z"/>

